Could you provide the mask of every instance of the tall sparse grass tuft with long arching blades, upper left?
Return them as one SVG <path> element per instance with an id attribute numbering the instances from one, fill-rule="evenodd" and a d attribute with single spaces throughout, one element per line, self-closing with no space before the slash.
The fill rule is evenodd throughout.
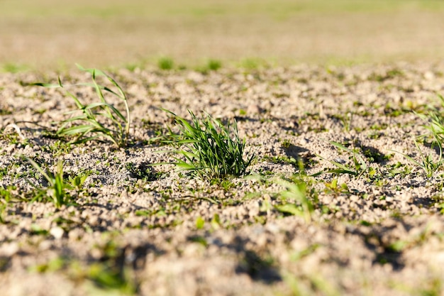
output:
<path id="1" fill-rule="evenodd" d="M 80 70 L 89 72 L 92 75 L 92 83 L 79 83 L 72 86 L 87 86 L 94 87 L 96 94 L 100 99 L 100 102 L 84 105 L 80 100 L 70 91 L 66 90 L 67 86 L 64 86 L 58 79 L 58 84 L 47 83 L 35 83 L 33 85 L 39 85 L 42 87 L 50 88 L 62 88 L 66 90 L 68 96 L 74 99 L 77 106 L 77 110 L 70 111 L 68 114 L 73 114 L 72 117 L 62 121 L 62 126 L 57 131 L 58 136 L 74 136 L 72 143 L 85 143 L 87 141 L 96 140 L 99 138 L 106 138 L 118 147 L 124 147 L 128 143 L 130 126 L 131 126 L 131 114 L 128 106 L 128 99 L 118 83 L 113 80 L 109 75 L 106 75 L 101 70 L 96 69 L 84 69 L 82 66 L 77 65 Z M 109 87 L 104 87 L 97 83 L 96 77 L 106 77 L 114 87 L 116 91 Z M 122 100 L 125 104 L 126 116 L 123 116 L 121 111 L 118 111 L 116 107 L 109 104 L 105 100 L 105 93 L 113 94 Z M 81 112 L 81 114 L 77 115 Z"/>

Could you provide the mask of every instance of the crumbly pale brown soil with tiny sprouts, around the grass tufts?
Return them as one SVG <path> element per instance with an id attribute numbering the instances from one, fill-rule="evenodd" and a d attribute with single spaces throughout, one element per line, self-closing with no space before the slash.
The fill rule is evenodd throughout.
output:
<path id="1" fill-rule="evenodd" d="M 426 177 L 400 154 L 421 160 L 414 137 L 426 129 L 414 111 L 438 106 L 443 71 L 421 63 L 118 70 L 111 75 L 133 116 L 132 144 L 120 149 L 53 137 L 72 99 L 27 84 L 56 74 L 1 74 L 1 295 L 443 295 L 443 171 Z M 73 70 L 61 79 L 89 77 Z M 71 90 L 97 100 L 92 89 Z M 172 124 L 160 107 L 235 118 L 257 155 L 250 176 L 209 182 L 150 166 L 172 160 L 157 152 L 171 147 L 150 142 Z M 306 175 L 334 168 L 328 160 L 353 168 L 331 141 L 368 168 L 301 176 L 297 159 Z M 429 143 L 418 146 L 436 161 Z M 52 170 L 60 159 L 67 177 L 87 176 L 70 190 L 77 204 L 30 202 L 32 185 L 48 184 L 21 155 Z M 307 184 L 309 219 L 279 211 L 278 180 L 292 177 Z"/>

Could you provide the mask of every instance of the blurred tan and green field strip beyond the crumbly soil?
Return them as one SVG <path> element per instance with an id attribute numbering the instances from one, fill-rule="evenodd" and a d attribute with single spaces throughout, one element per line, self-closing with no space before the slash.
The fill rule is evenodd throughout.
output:
<path id="1" fill-rule="evenodd" d="M 10 71 L 443 57 L 440 0 L 0 0 Z"/>

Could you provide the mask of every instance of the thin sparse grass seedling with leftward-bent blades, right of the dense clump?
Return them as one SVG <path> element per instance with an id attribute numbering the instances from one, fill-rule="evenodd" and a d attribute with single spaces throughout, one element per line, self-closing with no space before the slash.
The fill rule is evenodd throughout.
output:
<path id="1" fill-rule="evenodd" d="M 323 158 L 321 155 L 318 155 L 318 157 L 322 158 L 323 160 L 327 160 L 332 165 L 335 165 L 335 169 L 332 170 L 326 170 L 316 173 L 313 176 L 321 175 L 323 172 L 331 172 L 333 174 L 349 174 L 353 175 L 355 177 L 360 177 L 362 174 L 364 174 L 367 171 L 367 163 L 365 163 L 364 158 L 362 158 L 361 155 L 359 155 L 355 150 L 352 150 L 350 148 L 347 148 L 343 146 L 343 144 L 329 141 L 328 143 L 331 143 L 331 145 L 335 146 L 336 148 L 339 148 L 340 150 L 343 150 L 345 152 L 348 152 L 351 154 L 350 158 L 353 160 L 354 167 L 348 167 L 347 165 L 343 165 L 342 163 L 338 163 L 334 160 L 328 160 L 326 158 Z"/>

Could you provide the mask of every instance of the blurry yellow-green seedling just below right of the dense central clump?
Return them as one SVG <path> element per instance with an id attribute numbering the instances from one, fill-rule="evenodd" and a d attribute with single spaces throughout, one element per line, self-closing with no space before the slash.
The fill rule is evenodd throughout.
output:
<path id="1" fill-rule="evenodd" d="M 306 196 L 306 183 L 301 180 L 297 180 L 296 182 L 279 180 L 278 183 L 286 188 L 284 192 L 280 193 L 286 203 L 279 204 L 275 208 L 279 212 L 301 216 L 306 222 L 311 221 L 311 214 L 313 213 L 314 206 L 311 200 Z"/>

